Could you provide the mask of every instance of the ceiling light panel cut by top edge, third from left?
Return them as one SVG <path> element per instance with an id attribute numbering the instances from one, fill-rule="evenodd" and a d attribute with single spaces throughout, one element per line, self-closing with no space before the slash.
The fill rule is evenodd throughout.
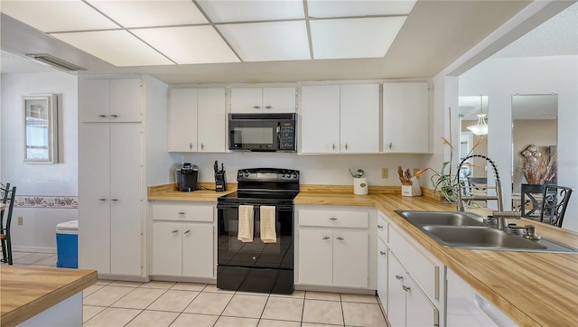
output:
<path id="1" fill-rule="evenodd" d="M 213 23 L 304 19 L 303 1 L 198 1 Z"/>

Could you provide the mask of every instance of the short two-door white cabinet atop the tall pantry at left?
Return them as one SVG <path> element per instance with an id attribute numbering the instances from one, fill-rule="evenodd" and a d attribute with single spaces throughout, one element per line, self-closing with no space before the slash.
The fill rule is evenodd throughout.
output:
<path id="1" fill-rule="evenodd" d="M 79 81 L 79 120 L 140 122 L 141 79 L 85 79 Z"/>

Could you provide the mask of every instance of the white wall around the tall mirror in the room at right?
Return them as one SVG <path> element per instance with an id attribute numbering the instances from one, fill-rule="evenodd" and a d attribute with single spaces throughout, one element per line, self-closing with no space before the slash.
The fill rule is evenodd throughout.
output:
<path id="1" fill-rule="evenodd" d="M 460 96 L 489 96 L 489 156 L 496 160 L 506 204 L 511 204 L 512 114 L 514 94 L 558 95 L 558 184 L 578 190 L 578 56 L 490 58 L 460 76 Z M 578 230 L 578 196 L 573 196 L 564 228 Z"/>

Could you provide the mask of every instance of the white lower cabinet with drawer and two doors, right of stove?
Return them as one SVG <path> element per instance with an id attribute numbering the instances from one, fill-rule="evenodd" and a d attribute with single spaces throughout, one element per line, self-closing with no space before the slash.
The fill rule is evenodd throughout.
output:
<path id="1" fill-rule="evenodd" d="M 298 281 L 324 285 L 375 289 L 369 267 L 368 221 L 375 215 L 364 210 L 298 210 Z M 374 253 L 371 251 L 371 253 Z"/>

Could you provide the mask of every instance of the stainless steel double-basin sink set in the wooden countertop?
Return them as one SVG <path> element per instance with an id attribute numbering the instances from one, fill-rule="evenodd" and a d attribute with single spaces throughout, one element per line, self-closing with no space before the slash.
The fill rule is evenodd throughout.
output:
<path id="1" fill-rule="evenodd" d="M 508 234 L 470 212 L 396 210 L 396 213 L 447 248 L 578 253 L 578 248 L 553 239 L 530 240 Z"/>

